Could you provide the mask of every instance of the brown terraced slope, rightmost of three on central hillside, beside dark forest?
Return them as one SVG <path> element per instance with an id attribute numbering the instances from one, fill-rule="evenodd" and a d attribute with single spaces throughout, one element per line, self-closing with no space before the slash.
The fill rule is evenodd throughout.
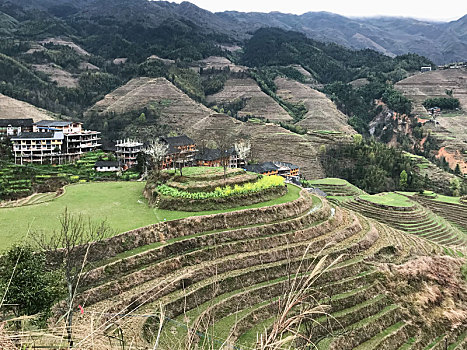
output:
<path id="1" fill-rule="evenodd" d="M 308 130 L 331 130 L 346 134 L 355 131 L 347 123 L 347 116 L 339 111 L 327 96 L 298 81 L 277 78 L 277 95 L 292 103 L 303 103 L 308 112 L 298 125 Z"/>

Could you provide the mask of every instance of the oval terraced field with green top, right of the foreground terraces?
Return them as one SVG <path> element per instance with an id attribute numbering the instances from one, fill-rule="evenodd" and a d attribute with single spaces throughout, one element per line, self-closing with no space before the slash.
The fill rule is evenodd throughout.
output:
<path id="1" fill-rule="evenodd" d="M 400 201 L 391 198 L 394 199 L 394 204 L 391 204 L 384 196 L 361 196 L 343 201 L 341 205 L 404 232 L 439 244 L 465 248 L 467 236 L 447 220 L 402 195 L 386 196 L 399 196 Z"/>

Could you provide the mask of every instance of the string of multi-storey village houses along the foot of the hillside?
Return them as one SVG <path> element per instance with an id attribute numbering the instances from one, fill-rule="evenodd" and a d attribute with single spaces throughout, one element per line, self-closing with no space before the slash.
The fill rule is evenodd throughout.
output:
<path id="1" fill-rule="evenodd" d="M 0 119 L 0 139 L 9 138 L 16 164 L 61 164 L 79 159 L 83 154 L 101 146 L 100 132 L 85 130 L 80 122 L 32 119 Z M 223 166 L 243 168 L 263 175 L 281 175 L 298 178 L 298 166 L 284 162 L 265 162 L 247 165 L 235 147 L 220 149 L 198 149 L 195 142 L 186 135 L 162 137 L 160 142 L 167 145 L 162 161 L 163 169 L 182 166 Z M 134 167 L 138 155 L 144 151 L 145 144 L 138 140 L 119 140 L 112 150 L 116 161 L 98 161 L 96 171 L 117 172 Z"/>

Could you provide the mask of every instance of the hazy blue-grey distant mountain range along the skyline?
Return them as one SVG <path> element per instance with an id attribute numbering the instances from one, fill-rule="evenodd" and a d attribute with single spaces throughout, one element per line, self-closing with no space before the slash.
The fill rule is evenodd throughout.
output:
<path id="1" fill-rule="evenodd" d="M 16 0 L 11 4 L 38 8 L 57 17 L 109 16 L 151 27 L 167 19 L 190 21 L 207 32 L 237 40 L 247 38 L 261 27 L 278 27 L 305 33 L 315 40 L 355 49 L 371 48 L 390 56 L 413 52 L 438 64 L 467 60 L 467 15 L 452 22 L 430 22 L 397 17 L 348 18 L 327 12 L 212 13 L 189 2 L 146 0 Z"/>

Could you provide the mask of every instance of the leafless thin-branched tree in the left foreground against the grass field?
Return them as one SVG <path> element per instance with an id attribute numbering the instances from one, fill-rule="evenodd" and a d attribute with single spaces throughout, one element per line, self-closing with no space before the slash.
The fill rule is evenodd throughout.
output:
<path id="1" fill-rule="evenodd" d="M 70 214 L 67 208 L 60 217 L 59 231 L 55 231 L 51 237 L 44 233 L 33 235 L 34 241 L 50 257 L 52 264 L 63 268 L 67 298 L 62 317 L 65 319 L 70 347 L 73 347 L 74 299 L 80 280 L 85 279 L 87 275 L 90 248 L 93 243 L 109 235 L 110 229 L 105 222 L 94 224 L 81 215 Z"/>

